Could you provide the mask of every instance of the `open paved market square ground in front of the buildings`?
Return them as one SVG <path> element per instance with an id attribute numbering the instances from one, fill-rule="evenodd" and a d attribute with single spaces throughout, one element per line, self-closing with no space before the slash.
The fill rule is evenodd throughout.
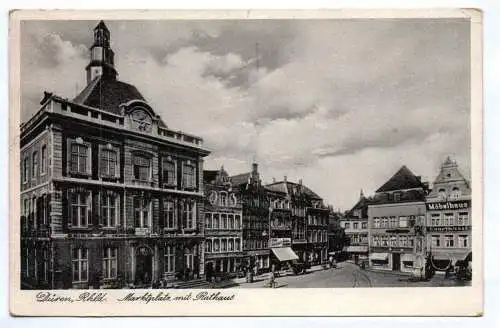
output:
<path id="1" fill-rule="evenodd" d="M 246 283 L 244 279 L 235 281 L 235 288 L 265 288 L 269 275 L 259 276 L 255 282 Z M 277 288 L 369 288 L 369 287 L 452 287 L 468 286 L 468 281 L 445 279 L 435 275 L 429 281 L 412 282 L 408 276 L 387 272 L 362 270 L 352 263 L 340 263 L 337 269 L 313 267 L 305 275 L 287 275 L 276 279 Z"/>

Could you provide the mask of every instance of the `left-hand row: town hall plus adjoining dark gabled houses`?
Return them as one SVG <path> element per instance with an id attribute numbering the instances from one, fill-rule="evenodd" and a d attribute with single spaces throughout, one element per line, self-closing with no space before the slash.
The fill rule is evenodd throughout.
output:
<path id="1" fill-rule="evenodd" d="M 120 288 L 203 279 L 272 261 L 326 260 L 328 218 L 302 184 L 254 163 L 203 169 L 209 150 L 119 81 L 100 22 L 74 99 L 45 93 L 21 125 L 22 288 Z"/>

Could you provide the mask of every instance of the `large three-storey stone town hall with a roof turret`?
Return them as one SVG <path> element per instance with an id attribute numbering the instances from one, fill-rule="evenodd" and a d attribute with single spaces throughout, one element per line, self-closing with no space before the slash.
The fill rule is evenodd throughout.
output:
<path id="1" fill-rule="evenodd" d="M 204 274 L 201 138 L 117 79 L 94 29 L 87 86 L 21 125 L 22 288 L 146 287 Z"/>

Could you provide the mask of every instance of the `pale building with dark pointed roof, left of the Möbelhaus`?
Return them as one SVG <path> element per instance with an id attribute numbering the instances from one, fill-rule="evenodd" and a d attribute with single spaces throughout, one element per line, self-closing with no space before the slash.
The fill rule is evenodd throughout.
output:
<path id="1" fill-rule="evenodd" d="M 369 265 L 413 273 L 417 267 L 417 228 L 425 223 L 428 184 L 403 166 L 375 193 L 368 205 Z M 417 249 L 419 248 L 419 249 Z"/>

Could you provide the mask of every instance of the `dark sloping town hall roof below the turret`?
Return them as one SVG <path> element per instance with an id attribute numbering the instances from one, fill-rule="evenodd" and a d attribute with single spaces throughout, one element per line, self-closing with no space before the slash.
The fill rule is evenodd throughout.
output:
<path id="1" fill-rule="evenodd" d="M 113 78 L 95 78 L 77 95 L 73 102 L 99 108 L 113 114 L 121 114 L 119 105 L 131 100 L 145 101 L 141 93 L 131 84 Z"/>

